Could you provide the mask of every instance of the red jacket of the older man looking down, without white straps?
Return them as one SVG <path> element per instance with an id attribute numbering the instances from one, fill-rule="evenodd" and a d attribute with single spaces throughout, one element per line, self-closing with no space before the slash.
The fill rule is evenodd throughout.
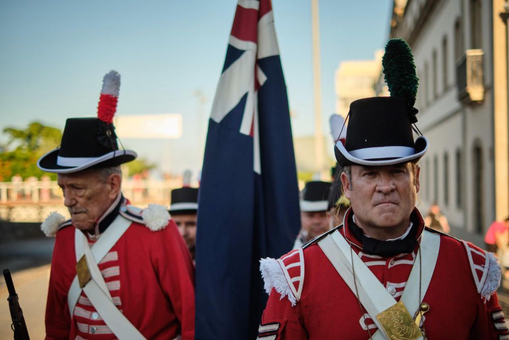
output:
<path id="1" fill-rule="evenodd" d="M 125 206 L 122 210 L 126 211 Z M 132 211 L 130 215 L 133 223 L 98 263 L 113 302 L 148 339 L 173 339 L 181 334 L 183 340 L 191 340 L 194 266 L 177 226 L 169 220 L 159 230 L 151 230 L 141 215 Z M 46 339 L 116 339 L 84 292 L 71 319 L 67 295 L 76 275 L 75 230 L 67 222 L 56 234 Z M 89 244 L 95 242 L 87 237 Z"/>

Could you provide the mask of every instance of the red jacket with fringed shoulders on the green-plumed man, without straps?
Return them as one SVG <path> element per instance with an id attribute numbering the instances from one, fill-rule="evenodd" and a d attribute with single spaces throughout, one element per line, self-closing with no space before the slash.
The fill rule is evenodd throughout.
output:
<path id="1" fill-rule="evenodd" d="M 390 257 L 365 253 L 348 228 L 348 220 L 347 216 L 347 227 L 331 232 L 340 233 L 355 245 L 352 248 L 364 264 L 399 301 L 418 246 L 412 253 Z M 412 213 L 412 220 L 417 223 L 420 237 L 424 225 L 417 210 Z M 265 289 L 270 294 L 259 339 L 368 339 L 367 328 L 372 334 L 378 331 L 365 309 L 361 312 L 356 295 L 316 241 L 279 260 L 261 261 Z M 422 298 L 430 305 L 422 324 L 428 338 L 509 339 L 494 292 L 499 282 L 500 269 L 493 254 L 440 233 L 436 267 Z"/>

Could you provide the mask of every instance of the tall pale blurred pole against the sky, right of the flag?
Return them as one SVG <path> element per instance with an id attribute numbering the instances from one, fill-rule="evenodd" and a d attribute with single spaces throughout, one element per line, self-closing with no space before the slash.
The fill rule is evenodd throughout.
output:
<path id="1" fill-rule="evenodd" d="M 323 133 L 322 133 L 322 95 L 320 88 L 320 27 L 318 17 L 318 0 L 311 0 L 311 23 L 313 39 L 313 81 L 315 93 L 315 160 L 316 169 L 324 168 Z"/>

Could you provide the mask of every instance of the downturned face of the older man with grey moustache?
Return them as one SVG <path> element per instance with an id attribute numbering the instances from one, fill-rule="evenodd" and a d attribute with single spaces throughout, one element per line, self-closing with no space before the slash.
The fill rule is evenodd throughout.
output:
<path id="1" fill-rule="evenodd" d="M 120 177 L 115 174 L 108 179 L 112 176 Z M 64 205 L 71 214 L 72 224 L 79 230 L 94 229 L 119 192 L 109 180 L 100 178 L 95 170 L 59 174 L 57 182 L 64 194 Z"/>

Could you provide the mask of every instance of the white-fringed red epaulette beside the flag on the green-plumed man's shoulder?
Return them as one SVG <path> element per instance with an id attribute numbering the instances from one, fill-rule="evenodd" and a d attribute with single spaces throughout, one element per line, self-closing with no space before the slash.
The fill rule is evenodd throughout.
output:
<path id="1" fill-rule="evenodd" d="M 286 255 L 274 258 L 262 258 L 260 271 L 264 280 L 264 288 L 270 294 L 272 288 L 281 295 L 288 297 L 292 306 L 300 300 L 304 285 L 304 253 L 302 248 L 292 250 Z"/>

